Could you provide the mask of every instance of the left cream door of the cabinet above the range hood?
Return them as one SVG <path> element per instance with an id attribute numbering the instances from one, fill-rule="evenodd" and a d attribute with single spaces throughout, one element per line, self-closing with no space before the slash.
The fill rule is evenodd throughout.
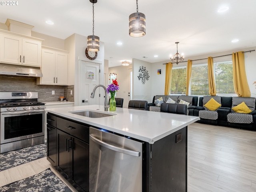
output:
<path id="1" fill-rule="evenodd" d="M 22 38 L 0 34 L 0 61 L 22 64 Z"/>

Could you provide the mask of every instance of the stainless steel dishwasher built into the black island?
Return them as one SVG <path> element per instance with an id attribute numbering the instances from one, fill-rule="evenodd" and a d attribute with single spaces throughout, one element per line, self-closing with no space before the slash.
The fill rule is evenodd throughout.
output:
<path id="1" fill-rule="evenodd" d="M 141 192 L 142 142 L 90 127 L 90 192 Z"/>

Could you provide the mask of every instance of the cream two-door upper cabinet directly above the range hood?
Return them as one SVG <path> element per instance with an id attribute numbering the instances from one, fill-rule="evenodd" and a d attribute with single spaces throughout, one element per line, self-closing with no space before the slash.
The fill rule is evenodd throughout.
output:
<path id="1" fill-rule="evenodd" d="M 0 34 L 0 62 L 41 67 L 42 42 Z"/>

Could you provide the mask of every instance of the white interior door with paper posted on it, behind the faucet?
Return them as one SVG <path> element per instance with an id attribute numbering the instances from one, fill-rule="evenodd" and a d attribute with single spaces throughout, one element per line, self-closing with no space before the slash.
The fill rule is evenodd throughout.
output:
<path id="1" fill-rule="evenodd" d="M 79 105 L 104 105 L 104 89 L 96 89 L 91 98 L 93 88 L 100 84 L 100 64 L 79 60 Z"/>

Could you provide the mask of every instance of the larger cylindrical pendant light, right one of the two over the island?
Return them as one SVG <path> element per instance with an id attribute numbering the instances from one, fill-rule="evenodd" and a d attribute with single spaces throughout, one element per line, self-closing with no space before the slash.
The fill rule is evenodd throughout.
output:
<path id="1" fill-rule="evenodd" d="M 142 37 L 146 34 L 146 16 L 138 12 L 138 0 L 136 0 L 136 13 L 129 16 L 129 35 L 132 37 Z"/>

